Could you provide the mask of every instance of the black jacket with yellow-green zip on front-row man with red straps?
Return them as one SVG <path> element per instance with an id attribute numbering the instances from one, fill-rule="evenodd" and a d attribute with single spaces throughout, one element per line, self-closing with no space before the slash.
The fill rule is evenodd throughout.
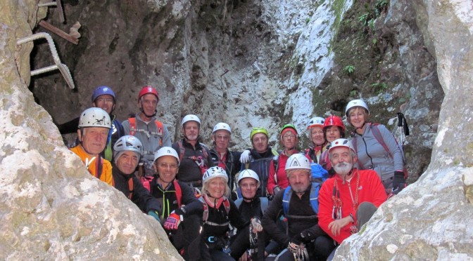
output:
<path id="1" fill-rule="evenodd" d="M 176 188 L 174 183 L 171 182 L 167 188 L 162 188 L 158 185 L 158 176 L 155 175 L 150 184 L 151 195 L 153 195 L 160 203 L 160 217 L 161 220 L 165 220 L 168 215 L 175 210 L 177 215 L 187 217 L 192 214 L 197 214 L 199 217 L 202 216 L 203 206 L 201 201 L 196 199 L 194 189 L 191 189 L 189 185 L 183 182 L 177 182 L 181 188 L 181 204 L 182 208 L 177 206 Z M 169 206 L 169 207 L 168 207 Z"/>

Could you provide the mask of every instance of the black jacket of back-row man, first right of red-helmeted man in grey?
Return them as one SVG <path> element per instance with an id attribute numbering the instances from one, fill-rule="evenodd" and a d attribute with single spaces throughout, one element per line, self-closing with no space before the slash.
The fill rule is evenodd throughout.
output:
<path id="1" fill-rule="evenodd" d="M 181 158 L 181 149 L 179 148 L 179 143 L 174 142 L 172 144 L 172 148 L 176 150 L 177 154 L 179 155 L 179 159 L 181 163 L 179 164 L 179 172 L 176 175 L 177 180 L 182 182 L 200 182 L 202 183 L 202 173 L 201 168 L 197 165 L 193 157 L 201 156 L 203 158 L 204 164 L 206 168 L 210 168 L 213 165 L 212 158 L 210 157 L 210 152 L 206 147 L 203 147 L 200 142 L 196 143 L 196 147 L 194 148 L 189 142 L 182 139 L 182 147 L 184 147 L 184 155 Z M 207 157 L 203 154 L 203 150 L 206 149 Z M 197 186 L 197 187 L 201 187 Z"/>

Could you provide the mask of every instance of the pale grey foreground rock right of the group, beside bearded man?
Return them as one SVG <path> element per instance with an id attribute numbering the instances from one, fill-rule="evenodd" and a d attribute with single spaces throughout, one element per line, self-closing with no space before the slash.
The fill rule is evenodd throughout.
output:
<path id="1" fill-rule="evenodd" d="M 445 98 L 426 173 L 384 203 L 336 260 L 472 260 L 473 6 L 415 1 L 417 25 L 437 59 Z M 427 20 L 426 20 L 427 19 Z"/>

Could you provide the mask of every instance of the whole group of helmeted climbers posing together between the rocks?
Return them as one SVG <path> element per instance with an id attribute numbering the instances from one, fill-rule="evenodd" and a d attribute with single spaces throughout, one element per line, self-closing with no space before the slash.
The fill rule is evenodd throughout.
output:
<path id="1" fill-rule="evenodd" d="M 351 140 L 339 116 L 314 117 L 305 151 L 296 126 L 286 124 L 281 151 L 270 147 L 265 128 L 253 128 L 243 152 L 229 149 L 227 123 L 213 128 L 213 147 L 201 143 L 194 114 L 183 117 L 182 139 L 172 143 L 151 86 L 141 88 L 139 112 L 122 123 L 116 102 L 100 86 L 92 107 L 58 128 L 77 131 L 71 151 L 89 173 L 158 220 L 184 260 L 330 259 L 406 184 L 402 147 L 385 126 L 368 122 L 363 100 L 346 106 Z"/>

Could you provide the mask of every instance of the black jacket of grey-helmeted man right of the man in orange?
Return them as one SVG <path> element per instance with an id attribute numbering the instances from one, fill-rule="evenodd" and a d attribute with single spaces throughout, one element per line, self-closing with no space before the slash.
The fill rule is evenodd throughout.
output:
<path id="1" fill-rule="evenodd" d="M 132 201 L 135 203 L 141 211 L 148 213 L 150 210 L 160 210 L 158 200 L 154 199 L 149 194 L 148 189 L 145 189 L 139 179 L 132 173 L 130 175 L 123 174 L 115 163 L 112 163 L 112 175 L 115 189 L 120 190 L 125 196 L 130 195 L 130 187 L 128 186 L 128 180 L 133 180 L 132 188 Z"/>

